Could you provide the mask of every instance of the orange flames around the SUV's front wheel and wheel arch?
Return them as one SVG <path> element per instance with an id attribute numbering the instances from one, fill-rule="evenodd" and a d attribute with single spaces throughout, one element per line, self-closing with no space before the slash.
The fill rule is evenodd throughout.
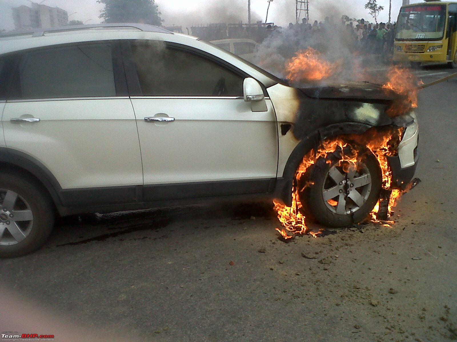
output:
<path id="1" fill-rule="evenodd" d="M 392 190 L 391 196 L 388 203 L 388 212 L 389 215 L 392 215 L 393 208 L 395 207 L 399 197 L 401 196 L 401 191 L 398 189 L 392 189 L 392 171 L 390 170 L 387 156 L 395 155 L 400 142 L 402 129 L 388 129 L 384 131 L 377 131 L 376 129 L 368 130 L 364 135 L 346 135 L 344 138 L 333 138 L 329 140 L 324 140 L 317 150 L 314 153 L 314 150 L 311 150 L 307 155 L 303 157 L 302 163 L 298 167 L 298 170 L 295 174 L 295 184 L 303 184 L 301 178 L 304 176 L 306 171 L 310 166 L 313 166 L 315 161 L 320 157 L 326 158 L 328 154 L 334 153 L 337 149 L 343 150 L 346 146 L 350 145 L 347 141 L 354 141 L 359 145 L 366 145 L 367 148 L 376 156 L 379 166 L 382 171 L 383 176 L 383 188 Z M 367 141 L 369 141 L 367 143 Z M 356 167 L 357 161 L 359 160 L 358 152 L 356 149 L 351 149 L 352 153 L 343 154 L 339 165 L 343 168 Z M 346 169 L 347 170 L 347 169 Z M 305 186 L 310 186 L 313 183 L 306 181 L 304 182 Z M 294 235 L 304 235 L 311 234 L 314 237 L 318 237 L 322 232 L 314 233 L 309 232 L 309 229 L 306 224 L 306 218 L 303 215 L 301 208 L 302 203 L 299 200 L 298 192 L 303 191 L 303 186 L 298 188 L 294 186 L 292 189 L 292 206 L 288 207 L 278 200 L 273 200 L 274 209 L 277 213 L 279 222 L 284 227 L 282 230 L 276 228 L 278 232 L 281 233 L 282 237 L 285 239 L 291 238 L 287 232 L 290 232 Z M 330 205 L 336 205 L 336 201 L 328 202 Z M 371 212 L 372 222 L 384 223 L 377 220 L 377 212 L 379 211 L 379 201 Z M 394 223 L 393 221 L 388 221 L 387 223 Z"/>

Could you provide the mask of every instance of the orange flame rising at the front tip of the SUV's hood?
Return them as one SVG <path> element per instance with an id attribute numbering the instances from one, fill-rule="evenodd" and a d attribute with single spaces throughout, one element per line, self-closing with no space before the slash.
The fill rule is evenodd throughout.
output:
<path id="1" fill-rule="evenodd" d="M 409 109 L 417 108 L 418 85 L 423 82 L 418 82 L 409 69 L 399 66 L 391 67 L 387 77 L 388 81 L 383 85 L 383 89 L 401 95 L 401 98 L 394 101 L 393 105 L 387 109 L 387 114 L 393 117 L 403 114 Z"/>

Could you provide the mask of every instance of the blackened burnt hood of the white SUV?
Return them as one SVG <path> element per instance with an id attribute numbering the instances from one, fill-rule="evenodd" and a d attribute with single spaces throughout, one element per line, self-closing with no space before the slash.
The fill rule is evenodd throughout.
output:
<path id="1" fill-rule="evenodd" d="M 389 102 L 398 94 L 369 82 L 326 83 L 319 86 L 300 88 L 310 98 L 341 99 L 361 102 Z"/>

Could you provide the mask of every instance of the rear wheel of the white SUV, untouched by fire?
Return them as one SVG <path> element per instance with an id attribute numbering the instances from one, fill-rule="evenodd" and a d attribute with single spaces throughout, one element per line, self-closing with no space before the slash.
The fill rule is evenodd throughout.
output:
<path id="1" fill-rule="evenodd" d="M 0 258 L 30 254 L 48 239 L 55 211 L 32 177 L 0 173 Z"/>

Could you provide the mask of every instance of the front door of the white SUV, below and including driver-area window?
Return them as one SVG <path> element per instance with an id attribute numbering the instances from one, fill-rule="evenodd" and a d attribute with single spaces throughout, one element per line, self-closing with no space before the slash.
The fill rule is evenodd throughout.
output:
<path id="1" fill-rule="evenodd" d="M 269 98 L 260 112 L 244 101 L 247 75 L 188 47 L 129 44 L 141 92 L 131 99 L 145 199 L 271 190 L 278 158 L 276 117 Z"/>

